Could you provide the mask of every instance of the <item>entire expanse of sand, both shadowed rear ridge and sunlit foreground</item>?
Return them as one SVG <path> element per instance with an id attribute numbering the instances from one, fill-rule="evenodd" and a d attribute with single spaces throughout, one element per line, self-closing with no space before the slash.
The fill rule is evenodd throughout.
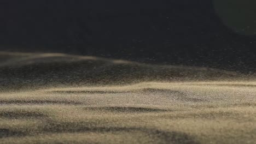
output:
<path id="1" fill-rule="evenodd" d="M 253 77 L 58 53 L 0 55 L 0 143 L 255 143 Z"/>

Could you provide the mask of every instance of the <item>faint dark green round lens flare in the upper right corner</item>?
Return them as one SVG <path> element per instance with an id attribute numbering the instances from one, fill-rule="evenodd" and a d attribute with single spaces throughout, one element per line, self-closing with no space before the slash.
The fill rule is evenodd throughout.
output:
<path id="1" fill-rule="evenodd" d="M 216 13 L 224 24 L 243 35 L 256 35 L 255 0 L 214 0 Z"/>

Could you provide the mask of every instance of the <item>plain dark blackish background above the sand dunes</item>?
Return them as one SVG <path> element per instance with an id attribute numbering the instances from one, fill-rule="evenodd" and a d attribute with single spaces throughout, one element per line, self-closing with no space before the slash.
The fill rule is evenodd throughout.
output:
<path id="1" fill-rule="evenodd" d="M 255 1 L 0 1 L 0 51 L 256 71 Z"/>

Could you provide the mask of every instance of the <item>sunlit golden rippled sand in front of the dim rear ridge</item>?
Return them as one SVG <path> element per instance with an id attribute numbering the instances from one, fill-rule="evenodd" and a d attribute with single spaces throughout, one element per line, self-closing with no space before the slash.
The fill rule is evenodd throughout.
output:
<path id="1" fill-rule="evenodd" d="M 0 93 L 0 143 L 255 143 L 256 82 Z"/>

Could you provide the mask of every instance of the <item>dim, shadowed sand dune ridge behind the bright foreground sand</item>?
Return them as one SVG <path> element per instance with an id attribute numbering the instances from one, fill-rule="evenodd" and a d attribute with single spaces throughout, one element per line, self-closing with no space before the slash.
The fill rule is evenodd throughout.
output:
<path id="1" fill-rule="evenodd" d="M 231 71 L 172 65 L 149 65 L 61 53 L 0 53 L 0 86 L 37 88 L 81 85 L 126 85 L 145 81 L 248 79 Z"/>

